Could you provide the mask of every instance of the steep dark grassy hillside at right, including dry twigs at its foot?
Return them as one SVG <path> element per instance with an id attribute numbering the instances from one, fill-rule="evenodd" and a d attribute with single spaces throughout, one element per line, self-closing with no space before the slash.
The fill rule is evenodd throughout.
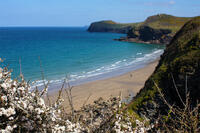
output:
<path id="1" fill-rule="evenodd" d="M 158 127 L 162 129 L 157 130 L 199 132 L 199 53 L 200 17 L 196 17 L 167 45 L 156 70 L 128 110 L 148 114 L 150 119 L 160 118 Z"/>

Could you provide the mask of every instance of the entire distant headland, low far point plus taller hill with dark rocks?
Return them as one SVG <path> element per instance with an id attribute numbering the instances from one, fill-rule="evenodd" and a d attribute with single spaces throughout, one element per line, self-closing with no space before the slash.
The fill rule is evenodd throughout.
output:
<path id="1" fill-rule="evenodd" d="M 148 17 L 144 22 L 121 24 L 113 21 L 94 22 L 89 32 L 126 33 L 127 37 L 118 41 L 168 44 L 176 32 L 191 18 L 158 14 Z"/>

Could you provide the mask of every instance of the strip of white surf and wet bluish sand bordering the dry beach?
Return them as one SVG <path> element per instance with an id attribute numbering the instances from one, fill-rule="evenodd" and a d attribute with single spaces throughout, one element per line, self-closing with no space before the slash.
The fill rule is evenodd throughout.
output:
<path id="1" fill-rule="evenodd" d="M 79 86 L 79 85 L 91 83 L 94 81 L 100 81 L 100 80 L 110 79 L 113 77 L 118 77 L 128 72 L 141 69 L 147 66 L 149 63 L 152 63 L 155 60 L 158 60 L 162 53 L 163 53 L 162 49 L 157 49 L 157 50 L 154 50 L 152 53 L 145 54 L 143 57 L 136 58 L 129 62 L 125 62 L 123 65 L 119 64 L 120 62 L 123 62 L 119 60 L 115 62 L 114 64 L 109 65 L 109 66 L 115 66 L 115 68 L 107 69 L 107 67 L 103 67 L 106 69 L 105 71 L 100 69 L 101 72 L 97 71 L 99 70 L 99 68 L 96 68 L 95 70 L 90 71 L 92 72 L 91 75 L 87 75 L 87 73 L 89 72 L 84 72 L 85 74 L 79 75 L 81 78 L 78 78 L 78 79 L 71 79 L 71 74 L 67 75 L 67 77 L 64 77 L 64 78 L 54 78 L 53 80 L 49 81 L 49 85 L 48 85 L 49 93 L 54 93 L 58 91 L 63 85 L 63 82 L 65 81 L 69 82 L 71 86 Z M 139 54 L 142 54 L 142 53 L 139 53 Z M 48 82 L 48 80 L 45 80 L 45 82 Z M 37 86 L 39 89 L 42 89 L 43 81 L 41 80 L 40 82 L 37 82 L 37 84 L 35 84 L 33 87 L 35 86 Z"/>

